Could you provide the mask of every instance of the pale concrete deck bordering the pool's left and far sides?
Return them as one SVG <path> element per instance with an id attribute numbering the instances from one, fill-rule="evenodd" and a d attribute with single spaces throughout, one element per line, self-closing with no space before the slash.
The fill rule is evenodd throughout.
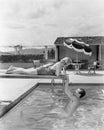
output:
<path id="1" fill-rule="evenodd" d="M 71 83 L 76 84 L 104 84 L 104 71 L 96 71 L 96 74 L 88 74 L 87 71 L 81 71 L 75 74 L 75 71 L 67 71 Z M 0 100 L 14 101 L 24 92 L 29 90 L 37 83 L 51 83 L 49 78 L 0 78 Z M 56 79 L 55 82 L 61 82 Z M 19 85 L 18 85 L 19 83 Z M 7 84 L 7 85 L 6 85 Z"/>

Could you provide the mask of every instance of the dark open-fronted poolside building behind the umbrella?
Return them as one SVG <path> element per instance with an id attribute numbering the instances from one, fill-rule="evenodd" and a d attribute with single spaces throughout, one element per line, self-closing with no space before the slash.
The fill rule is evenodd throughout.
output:
<path id="1" fill-rule="evenodd" d="M 92 62 L 95 60 L 104 61 L 104 36 L 58 37 L 54 42 L 56 48 L 56 61 L 65 56 L 70 57 L 72 60 L 75 60 L 76 58 L 77 53 L 73 49 L 69 49 L 63 44 L 67 38 L 75 38 L 90 45 L 92 49 L 92 55 L 88 56 L 83 53 L 78 53 L 78 57 L 80 60 L 87 60 L 88 62 Z"/>

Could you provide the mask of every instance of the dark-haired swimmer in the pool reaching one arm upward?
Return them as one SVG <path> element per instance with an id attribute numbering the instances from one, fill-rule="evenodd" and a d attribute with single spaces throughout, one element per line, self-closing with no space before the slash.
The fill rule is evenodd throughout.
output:
<path id="1" fill-rule="evenodd" d="M 76 111 L 76 109 L 80 105 L 80 100 L 82 97 L 86 95 L 86 92 L 83 88 L 78 88 L 75 91 L 75 94 L 71 92 L 69 88 L 69 77 L 66 76 L 65 80 L 65 94 L 68 96 L 69 101 L 64 106 L 63 109 L 56 108 L 55 110 L 52 110 L 52 113 L 59 114 L 60 117 L 71 117 L 73 113 Z"/>

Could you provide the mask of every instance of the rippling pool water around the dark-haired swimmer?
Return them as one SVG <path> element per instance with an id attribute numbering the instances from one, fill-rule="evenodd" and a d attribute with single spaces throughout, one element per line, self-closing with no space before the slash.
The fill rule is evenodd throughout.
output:
<path id="1" fill-rule="evenodd" d="M 68 102 L 64 93 L 54 95 L 51 85 L 39 85 L 0 120 L 1 130 L 103 130 L 104 129 L 104 86 L 70 85 L 74 92 L 78 87 L 87 92 L 81 105 L 72 117 L 61 118 L 55 109 L 63 109 Z M 55 91 L 61 93 L 61 86 Z M 62 95 L 62 96 L 60 96 Z M 60 99 L 59 102 L 57 99 Z"/>

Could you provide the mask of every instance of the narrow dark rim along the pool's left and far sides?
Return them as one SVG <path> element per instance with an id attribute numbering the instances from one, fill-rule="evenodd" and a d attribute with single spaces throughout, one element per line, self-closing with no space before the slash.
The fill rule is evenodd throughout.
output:
<path id="1" fill-rule="evenodd" d="M 62 85 L 62 83 L 55 83 L 56 85 Z M 70 83 L 69 83 L 70 84 Z M 104 83 L 71 83 L 71 85 L 104 85 Z M 35 85 L 33 85 L 30 89 L 25 91 L 22 95 L 20 95 L 17 99 L 15 99 L 11 104 L 5 107 L 3 110 L 3 113 L 0 113 L 0 119 L 5 118 L 7 114 L 9 114 L 9 111 L 12 110 L 19 102 L 21 102 L 26 96 L 28 96 L 35 88 L 37 88 L 39 85 L 50 85 L 49 82 L 37 82 Z"/>

